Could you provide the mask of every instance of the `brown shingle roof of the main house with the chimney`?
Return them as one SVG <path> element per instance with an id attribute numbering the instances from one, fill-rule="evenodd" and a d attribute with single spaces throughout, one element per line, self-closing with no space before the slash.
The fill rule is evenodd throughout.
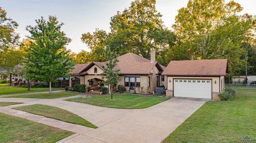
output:
<path id="1" fill-rule="evenodd" d="M 119 74 L 150 74 L 150 71 L 157 66 L 162 71 L 165 66 L 157 62 L 150 63 L 150 60 L 143 58 L 137 54 L 127 53 L 117 57 L 118 63 L 116 68 L 120 70 Z M 98 65 L 102 68 L 107 62 L 92 62 L 87 64 L 76 64 L 72 74 L 79 74 L 86 68 L 90 68 L 92 64 Z"/>

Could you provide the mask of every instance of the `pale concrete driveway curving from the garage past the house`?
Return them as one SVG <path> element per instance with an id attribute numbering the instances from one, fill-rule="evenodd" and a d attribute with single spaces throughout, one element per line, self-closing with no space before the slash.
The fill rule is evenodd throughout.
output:
<path id="1" fill-rule="evenodd" d="M 0 102 L 60 107 L 99 127 L 59 142 L 161 142 L 206 101 L 174 97 L 149 108 L 124 110 L 60 99 L 0 98 Z"/>

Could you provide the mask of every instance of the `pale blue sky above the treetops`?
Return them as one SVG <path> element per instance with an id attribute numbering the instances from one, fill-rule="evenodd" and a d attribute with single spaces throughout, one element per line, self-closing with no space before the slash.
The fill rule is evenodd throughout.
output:
<path id="1" fill-rule="evenodd" d="M 235 0 L 244 7 L 242 13 L 256 15 L 254 0 Z M 188 0 L 157 0 L 156 9 L 163 15 L 166 27 L 171 29 L 175 15 L 181 7 L 187 5 Z M 228 1 L 226 1 L 228 2 Z M 7 16 L 17 21 L 21 40 L 29 33 L 26 26 L 35 25 L 35 20 L 41 16 L 47 19 L 48 15 L 55 15 L 60 22 L 65 23 L 62 30 L 72 39 L 67 46 L 78 53 L 81 49 L 89 51 L 81 41 L 85 32 L 93 32 L 95 28 L 109 31 L 110 17 L 117 11 L 129 7 L 131 0 L 0 0 L 0 6 L 6 10 Z"/>

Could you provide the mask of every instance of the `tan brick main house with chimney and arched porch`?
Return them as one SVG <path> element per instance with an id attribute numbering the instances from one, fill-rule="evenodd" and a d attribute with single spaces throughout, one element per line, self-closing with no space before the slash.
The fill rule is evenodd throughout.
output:
<path id="1" fill-rule="evenodd" d="M 161 76 L 165 66 L 155 61 L 155 51 L 151 51 L 150 60 L 133 53 L 124 54 L 117 59 L 119 62 L 116 68 L 120 70 L 121 78 L 118 85 L 123 85 L 127 91 L 131 89 L 131 92 L 134 92 L 135 87 L 137 93 L 152 94 L 156 87 L 166 87 L 166 76 Z M 69 87 L 74 87 L 77 83 L 89 87 L 103 86 L 103 65 L 106 65 L 106 62 L 76 64 L 69 77 Z"/>

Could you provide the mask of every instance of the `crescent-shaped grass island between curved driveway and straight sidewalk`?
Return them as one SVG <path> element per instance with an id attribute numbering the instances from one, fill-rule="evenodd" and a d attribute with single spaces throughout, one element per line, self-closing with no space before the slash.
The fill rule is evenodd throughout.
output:
<path id="1" fill-rule="evenodd" d="M 82 117 L 76 114 L 73 114 L 69 111 L 63 110 L 61 108 L 53 107 L 53 106 L 34 104 L 34 105 L 15 107 L 14 109 L 49 117 L 49 118 L 64 121 L 64 122 L 84 125 L 90 128 L 98 128 L 94 124 L 90 123 L 89 121 L 86 121 L 85 119 L 83 119 Z"/>

